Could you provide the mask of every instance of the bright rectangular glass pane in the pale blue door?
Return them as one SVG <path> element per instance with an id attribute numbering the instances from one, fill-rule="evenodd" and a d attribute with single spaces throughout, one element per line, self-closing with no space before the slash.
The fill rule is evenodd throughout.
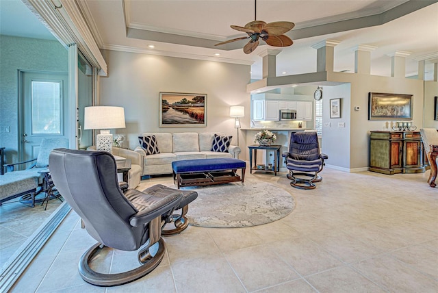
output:
<path id="1" fill-rule="evenodd" d="M 61 84 L 51 81 L 31 83 L 32 134 L 61 133 Z"/>

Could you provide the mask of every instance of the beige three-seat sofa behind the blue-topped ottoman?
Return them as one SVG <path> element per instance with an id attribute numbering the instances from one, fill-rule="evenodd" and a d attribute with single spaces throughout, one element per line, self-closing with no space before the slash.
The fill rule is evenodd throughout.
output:
<path id="1" fill-rule="evenodd" d="M 140 136 L 155 136 L 159 153 L 146 155 L 141 146 L 134 151 L 142 156 L 142 175 L 171 174 L 172 162 L 217 157 L 238 157 L 239 146 L 229 146 L 227 152 L 210 151 L 215 133 L 142 133 Z M 223 133 L 216 133 L 223 136 Z"/>

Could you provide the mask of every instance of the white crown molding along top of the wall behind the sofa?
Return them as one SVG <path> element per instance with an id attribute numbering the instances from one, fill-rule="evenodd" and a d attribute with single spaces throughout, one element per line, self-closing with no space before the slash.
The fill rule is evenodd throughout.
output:
<path id="1" fill-rule="evenodd" d="M 112 51 L 120 51 L 120 52 L 128 52 L 128 53 L 140 53 L 140 54 L 148 54 L 148 55 L 175 57 L 175 58 L 223 62 L 223 63 L 240 64 L 240 65 L 252 65 L 254 63 L 253 61 L 248 61 L 248 60 L 239 60 L 239 59 L 231 59 L 231 58 L 218 58 L 218 57 L 214 57 L 214 56 L 195 55 L 195 54 L 170 52 L 170 51 L 155 50 L 155 49 L 143 49 L 143 48 L 138 48 L 138 47 L 120 46 L 118 44 L 103 44 L 102 49 L 112 50 Z"/>

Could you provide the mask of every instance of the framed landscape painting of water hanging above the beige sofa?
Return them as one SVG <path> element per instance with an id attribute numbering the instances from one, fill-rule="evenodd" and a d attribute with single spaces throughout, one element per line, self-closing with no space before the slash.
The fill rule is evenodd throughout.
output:
<path id="1" fill-rule="evenodd" d="M 159 93 L 159 127 L 206 127 L 207 94 Z"/>

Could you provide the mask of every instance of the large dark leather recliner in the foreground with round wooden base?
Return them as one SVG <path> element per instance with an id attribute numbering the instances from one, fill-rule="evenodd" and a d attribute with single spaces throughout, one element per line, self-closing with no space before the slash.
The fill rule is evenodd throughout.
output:
<path id="1" fill-rule="evenodd" d="M 93 285 L 129 283 L 151 272 L 165 253 L 162 227 L 172 220 L 172 212 L 183 199 L 179 191 L 153 196 L 138 190 L 123 194 L 118 185 L 116 161 L 110 153 L 55 149 L 49 156 L 53 183 L 83 220 L 88 233 L 99 243 L 84 253 L 79 274 Z M 157 253 L 149 252 L 158 245 Z M 89 263 L 104 246 L 121 251 L 137 251 L 140 267 L 128 272 L 103 274 Z"/>

